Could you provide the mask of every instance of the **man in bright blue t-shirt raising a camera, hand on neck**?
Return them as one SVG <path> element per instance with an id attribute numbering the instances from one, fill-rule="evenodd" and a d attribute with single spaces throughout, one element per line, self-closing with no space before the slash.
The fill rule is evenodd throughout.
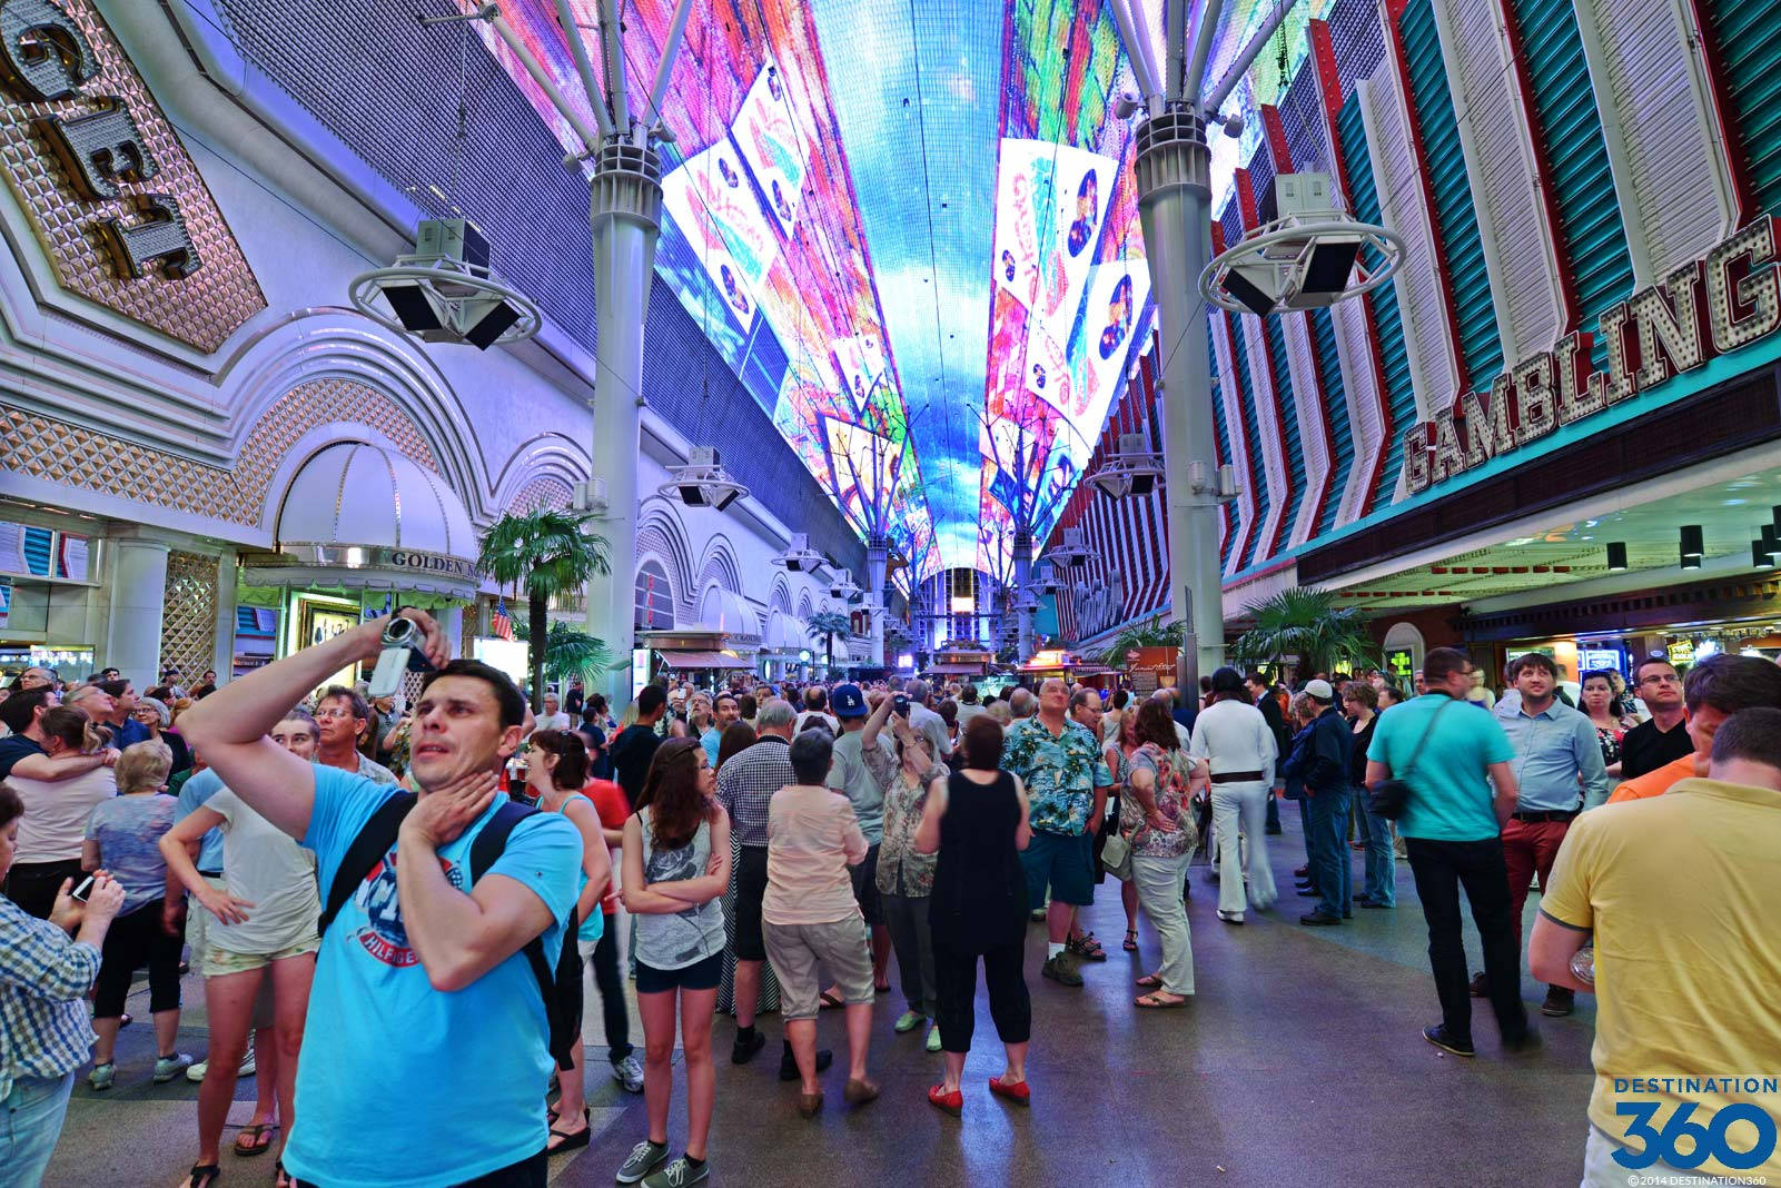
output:
<path id="1" fill-rule="evenodd" d="M 541 1184 L 549 1019 L 520 949 L 543 935 L 561 951 L 581 834 L 559 814 L 529 816 L 470 883 L 470 846 L 506 800 L 499 777 L 525 702 L 499 670 L 451 661 L 429 614 L 403 616 L 435 666 L 410 736 L 419 800 L 322 939 L 283 1163 L 328 1188 Z M 386 622 L 232 680 L 180 718 L 237 796 L 315 851 L 324 901 L 354 837 L 401 789 L 305 762 L 265 734 L 305 693 L 374 659 Z"/>

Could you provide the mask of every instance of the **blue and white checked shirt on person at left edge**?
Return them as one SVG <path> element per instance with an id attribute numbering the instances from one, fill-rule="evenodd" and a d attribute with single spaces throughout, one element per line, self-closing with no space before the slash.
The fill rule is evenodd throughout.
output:
<path id="1" fill-rule="evenodd" d="M 87 992 L 100 951 L 0 899 L 0 1101 L 12 1083 L 59 1078 L 87 1062 Z"/>

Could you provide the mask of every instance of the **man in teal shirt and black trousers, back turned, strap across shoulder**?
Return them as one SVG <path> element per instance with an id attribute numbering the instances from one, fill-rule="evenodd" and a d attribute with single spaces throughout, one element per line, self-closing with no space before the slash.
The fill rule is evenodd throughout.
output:
<path id="1" fill-rule="evenodd" d="M 1503 862 L 1503 823 L 1516 810 L 1516 752 L 1496 718 L 1466 704 L 1473 671 L 1457 648 L 1428 652 L 1428 691 L 1380 714 L 1366 750 L 1368 787 L 1389 778 L 1411 785 L 1398 834 L 1428 919 L 1428 964 L 1441 996 L 1441 1022 L 1423 1028 L 1423 1038 L 1455 1056 L 1475 1054 L 1462 885 L 1484 942 L 1484 980 L 1503 1046 L 1517 1049 L 1533 1038 L 1521 1005 L 1521 951 Z"/>

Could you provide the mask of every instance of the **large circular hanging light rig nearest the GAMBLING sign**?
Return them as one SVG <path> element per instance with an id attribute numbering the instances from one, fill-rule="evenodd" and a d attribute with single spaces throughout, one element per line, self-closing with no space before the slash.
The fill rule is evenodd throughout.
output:
<path id="1" fill-rule="evenodd" d="M 1282 173 L 1273 180 L 1281 217 L 1218 253 L 1200 273 L 1200 296 L 1231 313 L 1322 310 L 1384 285 L 1403 264 L 1396 233 L 1361 223 L 1330 194 L 1329 175 Z M 1371 271 L 1362 264 L 1377 255 Z"/>

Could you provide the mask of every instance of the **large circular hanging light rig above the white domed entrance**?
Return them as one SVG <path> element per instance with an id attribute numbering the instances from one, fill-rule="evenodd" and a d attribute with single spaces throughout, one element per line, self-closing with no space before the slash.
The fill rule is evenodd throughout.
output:
<path id="1" fill-rule="evenodd" d="M 488 240 L 468 219 L 426 219 L 413 253 L 360 273 L 347 296 L 360 313 L 399 335 L 468 342 L 479 351 L 524 342 L 541 324 L 538 303 L 488 267 Z"/>

